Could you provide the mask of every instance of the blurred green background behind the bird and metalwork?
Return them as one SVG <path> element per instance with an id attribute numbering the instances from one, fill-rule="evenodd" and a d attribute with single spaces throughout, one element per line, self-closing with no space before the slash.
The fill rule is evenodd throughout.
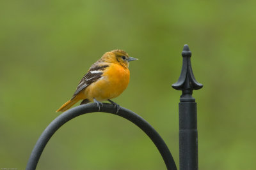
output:
<path id="1" fill-rule="evenodd" d="M 204 88 L 198 103 L 199 169 L 256 169 L 256 2 L 0 2 L 0 167 L 25 169 L 36 140 L 104 52 L 126 50 L 131 81 L 113 99 L 145 118 L 179 166 L 184 44 Z M 124 147 L 125 146 L 125 147 Z M 166 169 L 135 125 L 106 113 L 65 124 L 37 169 Z"/>

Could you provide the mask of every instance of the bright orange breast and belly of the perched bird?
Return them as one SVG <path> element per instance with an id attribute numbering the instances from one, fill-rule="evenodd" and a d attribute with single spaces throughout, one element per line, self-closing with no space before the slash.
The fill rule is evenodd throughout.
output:
<path id="1" fill-rule="evenodd" d="M 112 63 L 104 70 L 100 80 L 95 81 L 84 90 L 84 95 L 90 101 L 93 101 L 93 98 L 97 101 L 113 99 L 124 92 L 129 80 L 129 69 Z"/>

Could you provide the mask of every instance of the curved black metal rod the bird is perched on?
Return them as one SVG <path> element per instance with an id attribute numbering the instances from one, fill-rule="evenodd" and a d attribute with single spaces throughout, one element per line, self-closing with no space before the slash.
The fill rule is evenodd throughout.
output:
<path id="1" fill-rule="evenodd" d="M 81 106 L 77 106 L 76 108 L 72 108 L 68 111 L 65 111 L 60 116 L 55 118 L 51 122 L 51 124 L 49 124 L 48 127 L 46 127 L 46 129 L 44 130 L 44 132 L 41 134 L 40 138 L 36 142 L 36 145 L 33 148 L 31 155 L 29 157 L 26 170 L 36 169 L 36 165 L 45 148 L 45 145 L 47 144 L 49 139 L 51 139 L 54 132 L 56 132 L 61 127 L 61 125 L 65 124 L 72 118 L 78 117 L 79 115 L 92 113 L 92 112 L 112 113 L 114 115 L 118 115 L 127 120 L 130 120 L 133 124 L 140 127 L 140 129 L 144 131 L 147 134 L 147 136 L 154 142 L 154 144 L 156 145 L 157 149 L 159 150 L 159 152 L 163 157 L 163 160 L 166 164 L 167 169 L 177 170 L 177 167 L 173 160 L 172 154 L 170 153 L 170 150 L 164 143 L 161 136 L 159 136 L 157 131 L 150 124 L 148 124 L 146 120 L 144 120 L 142 117 L 140 117 L 136 113 L 122 107 L 120 107 L 120 110 L 118 111 L 118 113 L 115 113 L 116 108 L 113 107 L 113 104 L 103 103 L 103 107 L 100 108 L 100 111 L 98 110 L 99 108 L 97 108 L 95 103 L 83 104 Z"/>

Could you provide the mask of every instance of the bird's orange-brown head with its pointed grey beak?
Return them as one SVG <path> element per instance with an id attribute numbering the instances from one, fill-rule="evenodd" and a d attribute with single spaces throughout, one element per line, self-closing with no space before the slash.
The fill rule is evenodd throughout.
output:
<path id="1" fill-rule="evenodd" d="M 112 62 L 120 64 L 125 67 L 129 67 L 129 62 L 132 60 L 138 60 L 134 57 L 129 57 L 128 53 L 123 50 L 112 50 L 111 52 L 106 52 L 101 57 L 103 62 Z"/>

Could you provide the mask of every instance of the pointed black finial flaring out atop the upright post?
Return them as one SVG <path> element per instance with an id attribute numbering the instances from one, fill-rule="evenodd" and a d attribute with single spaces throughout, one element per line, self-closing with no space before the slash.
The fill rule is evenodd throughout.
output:
<path id="1" fill-rule="evenodd" d="M 183 57 L 183 61 L 180 78 L 176 83 L 172 85 L 172 87 L 176 90 L 182 90 L 182 95 L 180 96 L 181 102 L 195 102 L 195 98 L 192 97 L 193 90 L 201 89 L 203 85 L 196 81 L 193 74 L 190 61 L 191 51 L 189 50 L 188 45 L 184 45 L 181 54 Z"/>

